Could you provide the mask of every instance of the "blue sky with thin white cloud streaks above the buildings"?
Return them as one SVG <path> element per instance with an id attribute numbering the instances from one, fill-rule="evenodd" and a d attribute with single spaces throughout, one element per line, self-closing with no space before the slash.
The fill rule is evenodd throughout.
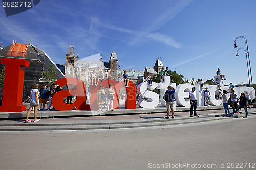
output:
<path id="1" fill-rule="evenodd" d="M 248 41 L 256 84 L 256 1 L 50 1 L 6 17 L 0 7 L 2 47 L 29 41 L 64 64 L 69 44 L 79 57 L 116 51 L 124 69 L 153 67 L 156 58 L 187 79 L 211 79 L 220 68 L 228 82 L 248 83 L 243 50 L 234 39 Z M 244 39 L 237 40 L 245 48 Z"/>

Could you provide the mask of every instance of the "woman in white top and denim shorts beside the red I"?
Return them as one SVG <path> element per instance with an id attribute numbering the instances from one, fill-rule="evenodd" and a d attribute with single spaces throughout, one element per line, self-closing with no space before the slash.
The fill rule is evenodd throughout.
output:
<path id="1" fill-rule="evenodd" d="M 38 90 L 38 84 L 34 84 L 33 88 L 30 90 L 30 104 L 29 104 L 29 111 L 27 112 L 26 122 L 31 122 L 29 120 L 29 115 L 31 110 L 34 107 L 34 122 L 40 121 L 40 119 L 36 118 L 37 115 L 37 108 L 39 106 L 39 90 Z"/>

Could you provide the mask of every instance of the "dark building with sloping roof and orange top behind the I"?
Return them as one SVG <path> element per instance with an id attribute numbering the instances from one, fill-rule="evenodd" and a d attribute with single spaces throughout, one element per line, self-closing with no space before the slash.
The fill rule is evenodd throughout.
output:
<path id="1" fill-rule="evenodd" d="M 41 71 L 50 70 L 50 65 L 53 65 L 57 79 L 65 77 L 46 52 L 32 45 L 31 41 L 24 44 L 18 43 L 13 38 L 13 43 L 4 48 L 0 43 L 0 61 L 1 58 L 23 59 L 30 62 L 29 67 L 25 68 L 24 72 L 23 99 L 29 96 L 34 83 L 40 83 Z M 2 70 L 4 66 L 0 64 L 0 69 Z"/>

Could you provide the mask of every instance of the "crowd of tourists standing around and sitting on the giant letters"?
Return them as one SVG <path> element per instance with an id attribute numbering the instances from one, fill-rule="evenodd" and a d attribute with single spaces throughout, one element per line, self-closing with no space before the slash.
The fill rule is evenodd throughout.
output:
<path id="1" fill-rule="evenodd" d="M 221 80 L 226 80 L 225 75 L 220 74 L 219 68 L 217 71 L 217 75 L 221 76 Z M 170 81 L 173 82 L 172 75 L 168 74 L 168 67 L 166 67 L 165 70 L 164 70 L 164 68 L 162 68 L 162 70 L 160 71 L 161 82 L 165 81 L 166 76 L 170 76 Z M 103 88 L 103 86 L 101 84 L 99 84 L 101 81 L 106 80 L 106 79 L 112 79 L 112 80 L 117 81 L 118 83 L 121 82 L 122 80 L 124 80 L 125 87 L 126 88 L 129 87 L 129 79 L 128 79 L 127 71 L 124 71 L 123 75 L 121 75 L 119 73 L 118 77 L 116 79 L 115 77 L 111 76 L 110 69 L 108 71 L 106 71 L 104 74 L 103 74 L 103 71 L 100 70 L 98 72 L 98 76 L 97 76 L 96 70 L 93 70 L 93 72 L 91 74 L 91 86 L 95 85 L 95 86 L 98 86 L 98 88 L 99 88 L 96 92 L 98 112 L 103 111 L 103 107 L 106 107 L 106 111 L 113 111 L 113 101 L 115 98 L 115 95 L 114 95 L 115 91 L 113 89 L 113 85 L 109 84 L 109 88 Z M 153 81 L 152 81 L 152 77 L 151 77 L 150 73 L 147 73 L 147 75 L 145 76 L 145 81 L 148 82 L 149 86 L 152 86 Z M 194 78 L 192 79 L 192 82 L 194 83 Z M 199 78 L 197 80 L 196 84 L 200 85 L 200 88 L 204 89 L 202 79 Z M 251 109 L 250 104 L 256 104 L 256 97 L 253 100 L 251 100 L 248 91 L 246 91 L 246 94 L 241 93 L 240 97 L 238 98 L 237 94 L 233 90 L 235 88 L 235 86 L 232 83 L 225 85 L 225 86 L 230 86 L 230 88 L 231 88 L 231 90 L 230 90 L 231 94 L 229 96 L 227 90 L 223 90 L 223 91 L 221 90 L 221 85 L 220 85 L 220 81 L 218 78 L 216 78 L 214 84 L 218 86 L 218 90 L 219 90 L 219 93 L 217 95 L 215 95 L 215 99 L 222 100 L 223 107 L 225 110 L 224 117 L 230 117 L 234 113 L 238 113 L 238 112 L 242 113 L 240 109 L 243 107 L 245 110 L 245 113 L 246 113 L 246 115 L 243 118 L 247 118 L 247 115 L 248 115 L 247 108 Z M 52 98 L 53 98 L 54 94 L 56 94 L 57 92 L 62 90 L 62 88 L 60 86 L 56 86 L 55 83 L 53 83 L 50 86 L 50 89 L 47 88 L 47 85 L 42 85 L 40 90 L 38 90 L 38 87 L 39 87 L 39 85 L 35 84 L 30 91 L 31 100 L 30 100 L 30 107 L 27 112 L 26 122 L 31 122 L 31 120 L 29 120 L 28 118 L 29 118 L 30 112 L 32 111 L 33 108 L 34 108 L 34 122 L 38 122 L 39 119 L 36 118 L 38 107 L 39 107 L 38 110 L 50 110 L 51 106 L 52 106 Z M 76 87 L 71 84 L 68 84 L 65 87 L 63 87 L 63 90 L 74 90 L 74 89 L 76 89 Z M 196 96 L 195 91 L 196 91 L 196 87 L 193 87 L 191 89 L 191 91 L 189 92 L 189 100 L 190 100 L 190 106 L 191 106 L 190 107 L 190 117 L 193 117 L 193 113 L 194 113 L 194 116 L 199 117 L 197 114 L 197 96 Z M 209 107 L 210 101 L 211 101 L 210 92 L 207 87 L 205 87 L 205 90 L 203 92 L 204 92 L 203 95 L 204 95 L 205 105 Z M 174 101 L 175 101 L 174 94 L 175 94 L 175 88 L 172 86 L 168 86 L 168 88 L 165 92 L 165 95 L 167 95 L 167 97 L 165 96 L 166 108 L 167 108 L 167 116 L 165 118 L 174 118 L 174 107 L 175 107 L 174 106 Z M 3 96 L 3 88 L 0 88 L 0 105 L 2 104 L 2 96 Z M 87 97 L 88 96 L 89 96 L 89 94 L 87 94 Z M 74 96 L 67 96 L 66 99 L 64 99 L 64 101 L 67 104 L 71 104 L 73 98 L 74 98 Z M 139 96 L 137 94 L 136 98 L 139 100 L 139 99 L 141 99 L 141 96 Z M 47 105 L 47 109 L 45 109 L 45 105 L 46 105 L 46 102 L 48 99 L 49 99 L 49 103 Z M 120 100 L 124 99 L 124 93 L 119 92 L 119 99 Z M 233 109 L 233 112 L 231 112 L 231 113 L 229 110 L 229 105 Z M 52 109 L 54 109 L 54 107 Z M 170 113 L 172 113 L 171 117 L 169 117 Z"/>

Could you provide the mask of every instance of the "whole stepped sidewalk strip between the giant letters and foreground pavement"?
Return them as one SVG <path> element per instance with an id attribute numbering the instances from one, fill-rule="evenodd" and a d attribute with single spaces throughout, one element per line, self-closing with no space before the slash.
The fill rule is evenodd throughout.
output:
<path id="1" fill-rule="evenodd" d="M 231 109 L 232 110 L 232 109 Z M 230 110 L 230 111 L 231 111 Z M 110 116 L 86 116 L 86 117 L 65 117 L 65 118 L 43 118 L 39 122 L 25 123 L 25 119 L 1 120 L 0 131 L 56 131 L 56 130 L 89 130 L 89 129 L 119 129 L 136 127 L 153 127 L 177 124 L 189 124 L 209 122 L 214 120 L 233 119 L 224 118 L 222 110 L 202 110 L 197 111 L 200 117 L 190 117 L 189 112 L 175 112 L 174 119 L 165 119 L 166 113 L 154 114 L 130 114 L 130 115 L 110 115 Z M 248 110 L 248 116 L 256 115 L 256 108 Z M 33 115 L 33 114 L 32 114 Z M 234 114 L 242 118 L 242 114 Z"/>

